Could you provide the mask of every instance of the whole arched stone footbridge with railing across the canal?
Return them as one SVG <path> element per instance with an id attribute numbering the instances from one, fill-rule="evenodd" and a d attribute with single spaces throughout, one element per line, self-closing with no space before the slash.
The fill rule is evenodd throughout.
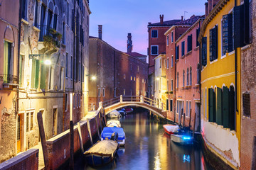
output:
<path id="1" fill-rule="evenodd" d="M 138 106 L 159 115 L 161 118 L 166 118 L 166 106 L 164 103 L 156 103 L 156 101 L 144 96 L 120 96 L 112 98 L 109 101 L 100 102 L 100 106 L 105 108 L 105 113 L 123 108 L 125 106 Z"/>

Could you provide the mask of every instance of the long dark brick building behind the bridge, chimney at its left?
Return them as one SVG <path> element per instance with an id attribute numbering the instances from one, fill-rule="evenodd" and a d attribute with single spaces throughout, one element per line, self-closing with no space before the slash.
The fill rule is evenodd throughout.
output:
<path id="1" fill-rule="evenodd" d="M 148 64 L 137 57 L 120 52 L 102 38 L 90 37 L 89 105 L 93 111 L 100 101 L 123 96 L 146 96 Z"/>

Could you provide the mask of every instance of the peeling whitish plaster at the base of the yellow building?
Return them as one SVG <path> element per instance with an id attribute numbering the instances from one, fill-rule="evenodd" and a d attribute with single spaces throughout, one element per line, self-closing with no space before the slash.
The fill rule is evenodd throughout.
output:
<path id="1" fill-rule="evenodd" d="M 231 159 L 232 162 L 240 166 L 238 137 L 235 135 L 235 131 L 224 129 L 223 126 L 216 123 L 202 122 L 205 139 L 225 154 L 225 159 Z"/>

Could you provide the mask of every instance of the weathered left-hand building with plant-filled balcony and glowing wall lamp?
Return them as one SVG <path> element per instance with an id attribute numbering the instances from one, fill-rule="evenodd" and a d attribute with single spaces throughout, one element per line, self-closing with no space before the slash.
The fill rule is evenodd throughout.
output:
<path id="1" fill-rule="evenodd" d="M 3 143 L 15 154 L 40 142 L 38 112 L 46 140 L 69 128 L 70 94 L 74 123 L 85 115 L 89 15 L 87 1 L 21 1 L 17 111 L 9 128 L 15 141 Z M 11 149 L 1 153 L 13 156 Z"/>

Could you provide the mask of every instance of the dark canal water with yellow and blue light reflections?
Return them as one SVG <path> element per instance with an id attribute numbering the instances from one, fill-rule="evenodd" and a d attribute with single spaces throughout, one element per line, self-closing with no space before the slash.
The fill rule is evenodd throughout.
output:
<path id="1" fill-rule="evenodd" d="M 87 166 L 83 159 L 75 160 L 75 169 L 212 169 L 201 148 L 176 145 L 166 135 L 163 124 L 149 118 L 149 113 L 130 113 L 120 120 L 126 135 L 125 147 L 117 151 L 114 161 L 106 166 Z"/>

